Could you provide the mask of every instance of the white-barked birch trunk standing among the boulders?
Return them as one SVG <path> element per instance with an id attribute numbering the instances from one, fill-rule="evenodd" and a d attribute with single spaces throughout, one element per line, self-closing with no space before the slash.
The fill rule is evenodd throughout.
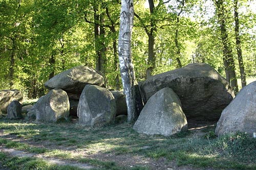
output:
<path id="1" fill-rule="evenodd" d="M 137 118 L 135 100 L 135 76 L 131 56 L 131 40 L 133 28 L 133 0 L 121 1 L 120 30 L 118 40 L 118 54 L 123 92 L 126 97 L 128 122 Z"/>

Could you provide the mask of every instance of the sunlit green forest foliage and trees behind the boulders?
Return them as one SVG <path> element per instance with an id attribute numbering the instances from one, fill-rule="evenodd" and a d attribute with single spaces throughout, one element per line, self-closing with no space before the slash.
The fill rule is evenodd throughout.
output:
<path id="1" fill-rule="evenodd" d="M 100 71 L 121 89 L 119 0 L 1 0 L 0 89 L 27 98 L 76 65 Z M 134 1 L 132 58 L 137 81 L 189 63 L 214 67 L 236 87 L 256 77 L 256 27 L 250 0 Z"/>

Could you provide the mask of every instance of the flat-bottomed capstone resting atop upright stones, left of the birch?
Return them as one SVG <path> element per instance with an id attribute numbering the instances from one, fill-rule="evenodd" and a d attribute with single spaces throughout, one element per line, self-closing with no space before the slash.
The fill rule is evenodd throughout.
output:
<path id="1" fill-rule="evenodd" d="M 102 86 L 104 78 L 96 70 L 80 65 L 60 72 L 45 83 L 46 88 L 60 88 L 66 91 L 70 99 L 79 100 L 80 94 L 87 84 Z"/>

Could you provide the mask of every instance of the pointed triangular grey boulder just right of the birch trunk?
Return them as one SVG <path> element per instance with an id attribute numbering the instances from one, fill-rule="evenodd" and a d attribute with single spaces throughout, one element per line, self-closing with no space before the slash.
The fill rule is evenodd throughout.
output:
<path id="1" fill-rule="evenodd" d="M 187 130 L 186 116 L 177 94 L 166 87 L 147 101 L 133 129 L 148 135 L 173 135 Z"/>

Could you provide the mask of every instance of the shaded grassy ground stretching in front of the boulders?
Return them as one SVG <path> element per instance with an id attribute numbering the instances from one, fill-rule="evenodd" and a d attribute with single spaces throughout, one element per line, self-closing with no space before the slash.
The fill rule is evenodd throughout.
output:
<path id="1" fill-rule="evenodd" d="M 76 123 L 34 124 L 0 118 L 0 145 L 96 169 L 256 169 L 256 139 L 216 137 L 214 126 L 172 137 L 138 134 L 130 124 L 85 129 Z M 200 131 L 201 135 L 198 135 Z M 17 166 L 18 165 L 18 166 Z M 77 169 L 0 153 L 0 169 Z"/>

